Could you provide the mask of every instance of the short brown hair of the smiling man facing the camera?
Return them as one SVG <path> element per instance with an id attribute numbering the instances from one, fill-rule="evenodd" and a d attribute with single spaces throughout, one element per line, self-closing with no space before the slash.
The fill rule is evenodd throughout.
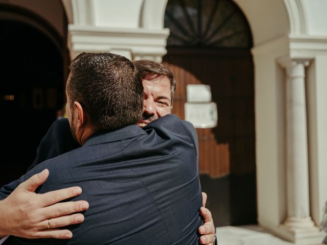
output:
<path id="1" fill-rule="evenodd" d="M 171 106 L 173 105 L 174 93 L 176 90 L 176 80 L 173 72 L 167 67 L 152 60 L 136 60 L 133 62 L 138 69 L 141 79 L 154 79 L 161 76 L 166 76 L 170 81 Z"/>

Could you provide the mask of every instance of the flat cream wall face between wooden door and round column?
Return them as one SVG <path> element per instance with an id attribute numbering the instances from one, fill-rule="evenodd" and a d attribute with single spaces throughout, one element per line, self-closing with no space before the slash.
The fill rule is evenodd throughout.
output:
<path id="1" fill-rule="evenodd" d="M 258 222 L 273 230 L 286 218 L 285 74 L 277 59 L 287 38 L 252 50 L 255 66 L 255 144 Z"/>

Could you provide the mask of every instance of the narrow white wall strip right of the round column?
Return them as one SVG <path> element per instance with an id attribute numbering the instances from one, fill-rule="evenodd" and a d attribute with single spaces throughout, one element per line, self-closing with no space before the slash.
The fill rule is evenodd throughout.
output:
<path id="1" fill-rule="evenodd" d="M 327 202 L 327 55 L 318 55 L 308 68 L 308 139 L 310 161 L 311 214 L 321 223 Z"/>

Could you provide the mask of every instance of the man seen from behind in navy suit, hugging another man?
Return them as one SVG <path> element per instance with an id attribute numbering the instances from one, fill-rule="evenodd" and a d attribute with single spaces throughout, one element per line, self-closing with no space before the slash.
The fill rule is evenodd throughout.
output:
<path id="1" fill-rule="evenodd" d="M 12 237 L 10 244 L 197 244 L 202 199 L 195 129 L 173 115 L 145 130 L 131 125 L 142 114 L 143 88 L 121 56 L 79 55 L 66 95 L 69 124 L 82 147 L 36 165 L 20 182 L 48 168 L 38 193 L 76 183 L 84 191 L 75 200 L 85 198 L 92 208 L 71 227 L 72 239 Z"/>

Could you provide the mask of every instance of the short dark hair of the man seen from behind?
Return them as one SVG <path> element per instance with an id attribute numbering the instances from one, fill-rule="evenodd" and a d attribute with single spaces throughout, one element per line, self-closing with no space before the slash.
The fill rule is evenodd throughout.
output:
<path id="1" fill-rule="evenodd" d="M 82 53 L 70 69 L 67 92 L 71 106 L 74 101 L 82 105 L 95 132 L 136 124 L 142 117 L 142 80 L 129 59 L 109 53 Z"/>

